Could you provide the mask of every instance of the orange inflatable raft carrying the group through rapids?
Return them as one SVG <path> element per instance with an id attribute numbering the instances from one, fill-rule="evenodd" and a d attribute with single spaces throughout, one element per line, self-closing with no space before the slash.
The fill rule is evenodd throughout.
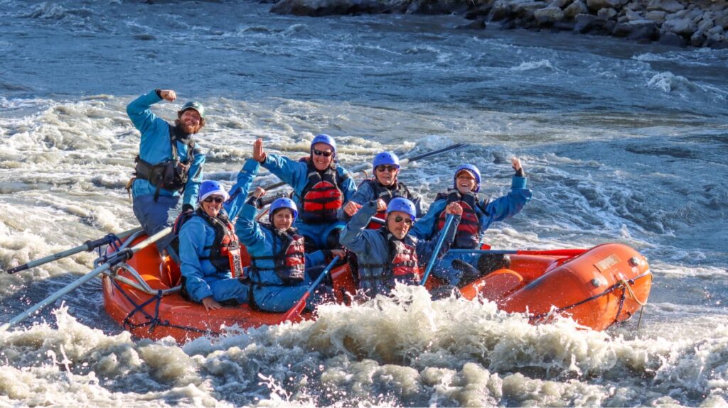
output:
<path id="1" fill-rule="evenodd" d="M 134 245 L 146 235 L 132 236 L 121 248 Z M 119 248 L 108 248 L 113 253 Z M 546 253 L 539 254 L 539 253 Z M 247 254 L 243 261 L 248 261 Z M 351 266 L 331 272 L 336 300 L 344 303 L 355 292 Z M 222 327 L 277 325 L 285 314 L 268 313 L 248 305 L 205 311 L 182 298 L 180 273 L 171 261 L 159 257 L 151 245 L 119 264 L 103 277 L 106 312 L 138 338 L 172 336 L 179 343 L 202 335 L 215 335 Z M 534 323 L 557 314 L 568 315 L 581 325 L 604 330 L 629 319 L 644 304 L 652 274 L 643 256 L 620 244 L 590 250 L 520 251 L 511 256 L 510 269 L 499 269 L 463 287 L 465 298 L 481 296 L 506 311 L 528 312 Z M 430 278 L 428 289 L 438 282 Z M 304 314 L 298 319 L 309 319 Z"/>

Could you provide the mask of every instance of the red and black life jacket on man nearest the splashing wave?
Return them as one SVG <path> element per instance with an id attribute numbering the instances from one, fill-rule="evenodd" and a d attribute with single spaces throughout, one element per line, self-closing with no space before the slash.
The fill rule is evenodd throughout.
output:
<path id="1" fill-rule="evenodd" d="M 380 285 L 392 289 L 395 287 L 396 282 L 418 282 L 419 264 L 414 242 L 409 241 L 412 238 L 405 237 L 403 240 L 397 240 L 392 233 L 387 231 L 386 227 L 381 227 L 377 232 L 387 241 L 387 263 L 365 264 L 360 258 L 360 272 L 363 272 L 364 269 L 371 272 L 374 270 L 381 271 L 371 275 L 360 273 L 360 285 L 363 285 L 364 289 Z"/>

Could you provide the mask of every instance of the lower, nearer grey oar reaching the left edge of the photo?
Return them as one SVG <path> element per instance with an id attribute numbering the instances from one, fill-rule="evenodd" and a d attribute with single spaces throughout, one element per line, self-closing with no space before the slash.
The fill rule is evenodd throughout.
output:
<path id="1" fill-rule="evenodd" d="M 149 245 L 151 245 L 153 242 L 156 242 L 160 238 L 165 237 L 165 235 L 169 234 L 170 232 L 172 232 L 172 227 L 167 227 L 165 229 L 162 229 L 162 231 L 157 232 L 157 234 L 154 234 L 151 237 L 147 238 L 146 240 L 139 242 L 137 245 L 134 245 L 132 248 L 126 248 L 124 250 L 119 250 L 118 252 L 112 253 L 109 256 L 103 256 L 102 257 L 103 264 L 100 264 L 94 270 L 85 274 L 83 277 L 80 277 L 79 279 L 75 280 L 74 282 L 71 282 L 71 284 L 66 285 L 66 287 L 63 287 L 63 289 L 58 290 L 58 292 L 53 293 L 52 295 L 50 295 L 47 298 L 40 301 L 39 303 L 36 303 L 36 305 L 31 307 L 31 309 L 23 311 L 23 313 L 18 314 L 16 317 L 13 317 L 12 320 L 10 320 L 9 322 L 0 326 L 0 332 L 4 332 L 4 331 L 8 330 L 11 326 L 17 325 L 17 323 L 20 323 L 23 320 L 25 320 L 26 317 L 30 316 L 31 314 L 35 313 L 36 311 L 39 311 L 40 309 L 43 309 L 45 306 L 49 305 L 50 303 L 55 302 L 61 296 L 66 295 L 66 293 L 71 292 L 71 290 L 76 289 L 76 287 L 83 285 L 84 283 L 88 282 L 89 280 L 91 280 L 93 277 L 100 274 L 101 272 L 111 269 L 111 266 L 114 266 L 116 264 L 119 264 L 120 262 L 126 261 L 127 259 L 134 256 L 135 253 L 138 253 L 140 250 L 148 247 Z"/>

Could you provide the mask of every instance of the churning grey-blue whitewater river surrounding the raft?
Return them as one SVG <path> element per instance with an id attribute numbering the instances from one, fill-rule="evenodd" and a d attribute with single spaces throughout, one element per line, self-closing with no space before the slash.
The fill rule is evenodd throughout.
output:
<path id="1" fill-rule="evenodd" d="M 654 273 L 639 330 L 534 327 L 405 290 L 406 307 L 328 306 L 317 322 L 177 346 L 130 338 L 93 280 L 0 334 L 0 405 L 728 404 L 728 50 L 268 9 L 0 0 L 0 269 L 135 227 L 125 106 L 175 89 L 207 107 L 205 175 L 227 186 L 258 137 L 298 156 L 331 134 L 344 166 L 470 144 L 402 172 L 427 203 L 461 163 L 502 195 L 520 157 L 534 197 L 488 242 L 637 248 Z M 0 273 L 0 322 L 94 258 Z"/>

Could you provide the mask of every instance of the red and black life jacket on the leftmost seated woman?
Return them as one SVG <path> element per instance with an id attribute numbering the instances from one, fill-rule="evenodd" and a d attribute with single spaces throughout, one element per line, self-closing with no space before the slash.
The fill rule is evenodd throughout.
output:
<path id="1" fill-rule="evenodd" d="M 173 231 L 178 232 L 181 229 L 182 224 L 193 216 L 198 216 L 207 222 L 207 225 L 215 229 L 215 240 L 212 245 L 206 246 L 202 249 L 209 249 L 209 256 L 200 256 L 200 261 L 210 261 L 210 264 L 215 266 L 218 271 L 230 271 L 232 277 L 245 279 L 245 271 L 242 269 L 242 258 L 240 256 L 240 240 L 238 240 L 235 234 L 235 227 L 230 222 L 225 211 L 220 211 L 218 216 L 210 217 L 202 211 L 202 208 L 197 208 L 194 213 L 181 214 L 175 221 L 175 227 Z"/>

